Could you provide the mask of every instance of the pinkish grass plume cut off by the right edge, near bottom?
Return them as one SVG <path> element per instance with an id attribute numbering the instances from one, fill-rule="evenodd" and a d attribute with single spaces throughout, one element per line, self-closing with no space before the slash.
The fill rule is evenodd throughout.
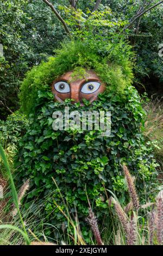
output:
<path id="1" fill-rule="evenodd" d="M 159 245 L 163 242 L 163 191 L 156 197 L 156 235 Z"/>

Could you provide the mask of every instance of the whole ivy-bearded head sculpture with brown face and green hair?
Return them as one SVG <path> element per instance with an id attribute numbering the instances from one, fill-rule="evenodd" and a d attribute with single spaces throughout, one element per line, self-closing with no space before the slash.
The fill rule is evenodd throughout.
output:
<path id="1" fill-rule="evenodd" d="M 67 46 L 66 49 L 68 49 Z M 72 53 L 69 56 L 68 50 L 66 51 L 67 59 L 72 58 Z M 87 51 L 89 56 L 87 60 L 90 61 L 89 51 L 87 49 L 85 51 Z M 75 51 L 74 57 L 76 57 L 76 54 Z M 65 57 L 65 52 L 63 56 Z M 62 211 L 66 211 L 67 208 L 65 208 L 65 205 L 68 206 L 71 217 L 73 217 L 74 213 L 78 213 L 80 227 L 85 231 L 86 223 L 84 220 L 87 217 L 89 208 L 87 197 L 90 200 L 93 210 L 95 209 L 98 220 L 100 223 L 104 223 L 104 218 L 108 215 L 108 197 L 106 197 L 103 187 L 109 187 L 110 190 L 114 191 L 114 187 L 117 186 L 118 177 L 122 179 L 120 174 L 122 173 L 121 164 L 123 162 L 128 162 L 133 174 L 135 170 L 136 174 L 139 174 L 142 172 L 142 168 L 139 167 L 142 161 L 145 161 L 143 163 L 146 163 L 147 166 L 151 166 L 152 160 L 151 154 L 145 149 L 145 144 L 142 141 L 140 133 L 143 114 L 139 97 L 135 97 L 136 91 L 133 87 L 128 87 L 132 77 L 132 75 L 129 75 L 129 66 L 126 69 L 126 66 L 121 62 L 122 60 L 119 59 L 118 55 L 115 56 L 122 65 L 116 66 L 114 64 L 111 69 L 108 63 L 104 63 L 104 60 L 101 59 L 101 62 L 99 61 L 98 64 L 103 65 L 104 63 L 105 66 L 105 69 L 102 66 L 99 69 L 101 70 L 101 76 L 104 77 L 106 75 L 106 78 L 109 76 L 106 74 L 106 65 L 108 65 L 108 74 L 110 74 L 110 80 L 108 84 L 106 83 L 110 90 L 105 90 L 106 84 L 102 83 L 92 70 L 81 68 L 79 71 L 81 70 L 84 75 L 77 74 L 78 77 L 76 77 L 75 74 L 79 73 L 77 72 L 78 69 L 76 69 L 57 77 L 60 70 L 58 66 L 60 64 L 64 66 L 64 61 L 65 64 L 67 62 L 63 56 L 61 55 L 56 63 L 54 59 L 50 60 L 46 65 L 44 63 L 40 64 L 41 69 L 39 69 L 39 72 L 37 72 L 37 69 L 30 71 L 26 80 L 24 80 L 22 87 L 24 111 L 28 110 L 27 113 L 35 111 L 35 118 L 32 119 L 33 121 L 30 123 L 30 127 L 18 149 L 15 179 L 18 185 L 22 184 L 22 180 L 31 180 L 31 192 L 29 192 L 30 196 L 26 200 L 26 208 L 32 205 L 33 211 L 33 202 L 35 202 L 36 209 L 40 209 L 41 202 L 41 205 L 45 205 L 45 210 L 41 206 L 41 209 L 43 208 L 43 216 L 47 216 L 45 220 L 57 227 L 58 225 L 61 227 L 61 223 L 66 223 L 67 220 L 61 214 L 59 208 L 56 208 L 54 205 L 54 200 L 56 200 Z M 80 56 L 82 56 L 82 52 Z M 85 54 L 83 60 L 85 62 Z M 108 62 L 107 58 L 106 60 Z M 55 67 L 58 67 L 56 72 Z M 121 74 L 121 70 L 123 70 L 124 74 Z M 117 72 L 120 73 L 117 75 Z M 64 71 L 62 71 L 63 73 Z M 55 74 L 57 77 L 54 81 L 52 74 Z M 115 79 L 116 75 L 117 79 Z M 108 79 L 105 80 L 107 81 Z M 55 100 L 58 102 L 52 102 L 51 97 L 45 93 L 49 85 L 48 81 L 53 81 L 52 92 L 55 95 Z M 45 87 L 42 88 L 43 93 L 41 97 L 38 97 L 38 94 L 35 92 L 36 90 L 40 90 L 41 85 L 45 85 Z M 124 97 L 123 90 L 121 90 L 123 86 L 126 88 Z M 78 106 L 79 104 L 83 105 L 84 99 L 90 102 L 97 100 L 99 93 L 103 92 L 105 93 L 98 100 L 98 104 L 92 103 L 90 106 L 81 106 L 82 109 Z M 66 99 L 73 99 L 72 103 L 78 102 L 77 106 L 71 105 L 70 102 L 62 104 Z M 133 103 L 134 108 L 131 102 L 135 102 Z M 76 127 L 70 131 L 54 131 L 51 123 L 53 113 L 59 111 L 63 113 L 64 117 L 64 107 L 66 106 L 70 107 L 71 112 L 77 110 L 79 114 L 82 114 L 84 112 L 83 110 L 86 111 L 86 114 L 89 114 L 87 112 L 99 110 L 111 111 L 111 136 L 99 136 L 101 135 L 101 131 L 98 130 L 83 130 L 78 132 Z M 26 107 L 29 108 L 27 109 Z M 86 123 L 88 124 L 89 121 L 87 120 Z M 137 154 L 137 151 L 140 153 Z M 141 154 L 143 154 L 143 160 L 140 160 Z M 155 167 L 152 168 L 155 169 Z M 143 192 L 144 179 L 142 180 L 141 176 L 136 175 L 136 178 L 138 179 L 137 184 L 139 184 L 139 188 L 141 187 L 140 184 L 142 184 L 142 190 L 140 192 Z M 56 190 L 56 185 L 52 177 L 57 182 L 62 197 L 60 197 L 58 190 Z M 113 179 L 114 177 L 115 179 Z M 50 191 L 49 196 L 48 191 Z M 57 192 L 55 193 L 55 191 Z M 123 199 L 124 185 L 118 186 L 115 193 L 118 196 L 122 194 Z M 35 200 L 36 197 L 39 200 Z M 49 215 L 50 212 L 51 215 Z M 68 227 L 68 223 L 65 227 Z M 64 236 L 68 233 L 68 229 L 65 229 Z M 90 227 L 87 228 L 88 232 L 89 230 Z M 59 235 L 61 234 L 60 231 Z M 54 230 L 52 230 L 52 233 L 54 234 Z"/>

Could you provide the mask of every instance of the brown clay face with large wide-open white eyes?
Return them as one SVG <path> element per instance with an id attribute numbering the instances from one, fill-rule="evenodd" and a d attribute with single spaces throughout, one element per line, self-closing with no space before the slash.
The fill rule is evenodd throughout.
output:
<path id="1" fill-rule="evenodd" d="M 99 80 L 95 72 L 86 71 L 86 77 L 72 81 L 72 71 L 60 76 L 52 83 L 52 92 L 57 101 L 63 102 L 65 99 L 73 99 L 73 102 L 83 103 L 83 99 L 90 102 L 97 99 L 99 93 L 105 90 L 104 83 Z"/>

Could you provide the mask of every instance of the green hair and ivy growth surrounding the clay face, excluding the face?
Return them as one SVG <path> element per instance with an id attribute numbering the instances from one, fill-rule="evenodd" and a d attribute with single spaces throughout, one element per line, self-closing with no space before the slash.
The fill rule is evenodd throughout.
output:
<path id="1" fill-rule="evenodd" d="M 108 207 L 104 186 L 113 189 L 121 202 L 126 199 L 126 184 L 121 171 L 123 162 L 127 162 L 136 175 L 139 192 L 150 191 L 153 186 L 156 163 L 152 147 L 145 145 L 141 133 L 145 113 L 140 97 L 130 86 L 132 73 L 127 44 L 114 45 L 114 49 L 108 44 L 108 47 L 111 50 L 105 51 L 104 57 L 96 48 L 91 50 L 84 43 L 71 42 L 58 52 L 57 57 L 28 72 L 22 84 L 22 109 L 33 114 L 30 115 L 30 129 L 20 142 L 16 182 L 31 180 L 33 190 L 24 204 L 26 208 L 35 197 L 43 203 L 43 197 L 54 191 L 45 205 L 47 221 L 53 224 L 66 221 L 54 204 L 55 200 L 65 210 L 52 177 L 70 212 L 73 214 L 77 208 L 82 226 L 88 214 L 86 192 L 99 220 L 104 218 Z M 124 51 L 122 47 L 126 47 Z M 70 100 L 54 103 L 50 88 L 54 78 L 72 69 L 74 75 L 81 75 L 83 68 L 97 72 L 106 83 L 106 92 L 91 104 L 85 101 L 82 107 L 79 103 L 72 105 Z M 111 111 L 110 137 L 99 136 L 101 131 L 54 131 L 52 114 L 54 111 L 64 112 L 65 106 L 70 107 L 70 111 L 79 112 Z"/>

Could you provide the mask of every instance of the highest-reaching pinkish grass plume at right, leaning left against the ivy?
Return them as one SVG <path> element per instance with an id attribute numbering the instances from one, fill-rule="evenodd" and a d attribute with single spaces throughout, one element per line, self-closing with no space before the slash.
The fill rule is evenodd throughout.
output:
<path id="1" fill-rule="evenodd" d="M 123 165 L 123 171 L 124 171 L 124 175 L 125 175 L 126 180 L 127 180 L 127 185 L 128 185 L 128 190 L 129 190 L 131 201 L 133 203 L 134 209 L 136 211 L 138 211 L 140 204 L 139 204 L 139 198 L 138 198 L 137 193 L 136 193 L 135 185 L 134 185 L 134 182 L 133 182 L 133 178 L 131 177 L 131 175 L 129 173 L 129 170 L 128 170 L 126 165 Z"/>

